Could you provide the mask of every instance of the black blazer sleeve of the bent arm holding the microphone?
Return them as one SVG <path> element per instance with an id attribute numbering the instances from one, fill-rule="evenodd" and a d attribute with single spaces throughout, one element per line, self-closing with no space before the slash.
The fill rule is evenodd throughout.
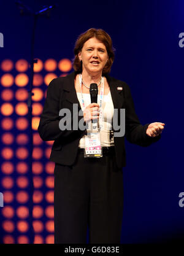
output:
<path id="1" fill-rule="evenodd" d="M 55 141 L 59 138 L 80 137 L 85 133 L 81 130 L 60 130 L 59 129 L 59 106 L 63 95 L 62 79 L 53 79 L 47 88 L 44 109 L 40 115 L 38 132 L 43 141 Z M 83 117 L 79 116 L 79 121 Z M 72 122 L 72 119 L 71 119 Z M 72 125 L 71 125 L 72 126 Z"/>

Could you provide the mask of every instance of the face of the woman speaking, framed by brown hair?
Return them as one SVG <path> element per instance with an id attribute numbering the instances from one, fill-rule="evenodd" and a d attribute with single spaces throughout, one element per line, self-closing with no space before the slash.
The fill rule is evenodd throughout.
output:
<path id="1" fill-rule="evenodd" d="M 83 45 L 79 53 L 79 60 L 82 60 L 82 70 L 88 73 L 101 72 L 108 60 L 108 54 L 105 45 L 92 37 Z"/>

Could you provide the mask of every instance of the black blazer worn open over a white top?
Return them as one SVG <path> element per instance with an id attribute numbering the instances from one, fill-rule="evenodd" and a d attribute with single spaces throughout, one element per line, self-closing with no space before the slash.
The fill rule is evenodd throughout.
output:
<path id="1" fill-rule="evenodd" d="M 78 110 L 74 113 L 75 115 L 78 115 L 81 109 L 74 87 L 75 76 L 76 72 L 72 72 L 66 77 L 59 77 L 50 82 L 38 128 L 40 137 L 44 141 L 54 141 L 50 160 L 61 165 L 74 164 L 80 138 L 86 134 L 86 130 L 61 131 L 59 129 L 59 120 L 62 118 L 59 117 L 60 109 L 67 108 L 73 114 L 74 103 L 78 104 Z M 147 147 L 151 143 L 158 141 L 161 135 L 151 138 L 146 134 L 149 124 L 141 125 L 134 110 L 129 86 L 125 82 L 114 79 L 109 75 L 105 75 L 105 77 L 109 83 L 114 108 L 118 110 L 125 109 L 125 136 L 114 138 L 116 162 L 118 168 L 121 168 L 126 166 L 125 137 L 131 143 Z M 118 90 L 117 87 L 122 87 L 123 90 Z M 81 118 L 83 117 L 79 117 L 79 121 Z"/>

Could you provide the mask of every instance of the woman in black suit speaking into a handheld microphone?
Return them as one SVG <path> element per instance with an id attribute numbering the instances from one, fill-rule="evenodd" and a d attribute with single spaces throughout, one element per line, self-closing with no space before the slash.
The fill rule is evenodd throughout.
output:
<path id="1" fill-rule="evenodd" d="M 90 243 L 120 243 L 124 138 L 148 146 L 161 137 L 164 123 L 141 125 L 128 85 L 109 76 L 114 59 L 109 34 L 89 29 L 77 39 L 74 54 L 75 72 L 48 86 L 38 128 L 44 141 L 55 141 L 50 155 L 55 161 L 55 243 L 85 243 L 87 228 Z M 98 103 L 91 103 L 91 83 L 98 87 Z M 71 115 L 65 117 L 63 109 Z M 120 134 L 112 125 L 115 111 Z M 74 128 L 76 117 L 85 128 Z M 91 133 L 92 120 L 98 120 L 96 133 Z M 96 144 L 89 139 L 93 135 Z M 87 151 L 91 145 L 95 150 L 99 145 L 98 153 Z"/>

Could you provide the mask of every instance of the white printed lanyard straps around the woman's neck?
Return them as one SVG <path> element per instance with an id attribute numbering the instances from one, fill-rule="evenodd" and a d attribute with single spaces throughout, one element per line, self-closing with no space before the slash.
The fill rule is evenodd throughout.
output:
<path id="1" fill-rule="evenodd" d="M 82 98 L 82 111 L 85 109 L 85 102 L 83 100 L 83 95 L 82 95 L 82 74 L 79 74 L 79 83 L 80 83 L 80 91 L 81 91 L 81 98 Z M 102 103 L 103 103 L 103 98 L 104 98 L 104 77 L 102 77 L 101 81 L 101 91 L 100 91 L 100 101 L 99 101 L 99 130 L 101 130 L 101 123 L 102 123 Z"/>

